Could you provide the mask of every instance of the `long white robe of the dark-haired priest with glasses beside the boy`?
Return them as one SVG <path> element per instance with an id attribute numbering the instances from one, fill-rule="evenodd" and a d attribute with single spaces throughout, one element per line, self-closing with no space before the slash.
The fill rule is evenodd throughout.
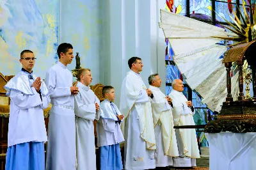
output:
<path id="1" fill-rule="evenodd" d="M 122 82 L 120 112 L 125 118 L 121 124 L 125 137 L 125 169 L 154 169 L 156 139 L 152 109 L 138 73 L 128 72 Z"/>

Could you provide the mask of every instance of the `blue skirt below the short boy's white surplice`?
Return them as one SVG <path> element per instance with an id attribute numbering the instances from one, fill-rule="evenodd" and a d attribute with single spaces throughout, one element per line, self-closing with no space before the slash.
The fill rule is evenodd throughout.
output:
<path id="1" fill-rule="evenodd" d="M 120 170 L 123 169 L 122 157 L 119 144 L 99 147 L 100 169 Z"/>

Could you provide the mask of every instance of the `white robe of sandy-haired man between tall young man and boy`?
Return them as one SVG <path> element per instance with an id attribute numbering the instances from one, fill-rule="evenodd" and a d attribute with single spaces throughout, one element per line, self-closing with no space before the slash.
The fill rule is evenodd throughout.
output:
<path id="1" fill-rule="evenodd" d="M 96 169 L 93 121 L 99 120 L 100 112 L 96 112 L 95 104 L 100 105 L 100 101 L 90 86 L 81 82 L 76 86 L 79 88 L 75 96 L 77 170 L 93 170 Z"/>

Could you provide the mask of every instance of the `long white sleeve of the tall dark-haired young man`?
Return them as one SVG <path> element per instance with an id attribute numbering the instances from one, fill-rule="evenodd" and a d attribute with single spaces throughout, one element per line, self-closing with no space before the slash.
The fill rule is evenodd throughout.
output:
<path id="1" fill-rule="evenodd" d="M 50 69 L 46 73 L 45 84 L 49 90 L 50 97 L 66 97 L 71 95 L 70 87 L 56 87 L 56 72 Z"/>

